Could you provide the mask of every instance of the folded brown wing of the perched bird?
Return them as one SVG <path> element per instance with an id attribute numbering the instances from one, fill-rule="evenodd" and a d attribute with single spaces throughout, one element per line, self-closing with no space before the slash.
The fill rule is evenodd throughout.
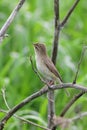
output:
<path id="1" fill-rule="evenodd" d="M 58 77 L 61 81 L 62 81 L 62 78 L 59 74 L 59 72 L 57 71 L 55 65 L 53 64 L 53 62 L 51 61 L 50 58 L 46 58 L 45 59 L 45 65 L 47 66 L 47 68 L 56 76 Z"/>

